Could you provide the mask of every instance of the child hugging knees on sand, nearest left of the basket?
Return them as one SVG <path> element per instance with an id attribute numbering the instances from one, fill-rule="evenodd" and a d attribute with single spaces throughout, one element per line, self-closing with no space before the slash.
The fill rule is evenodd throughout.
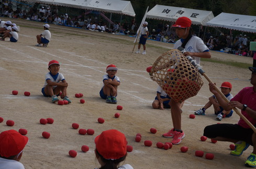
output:
<path id="1" fill-rule="evenodd" d="M 118 68 L 114 64 L 107 67 L 107 74 L 103 75 L 103 86 L 100 90 L 100 97 L 106 99 L 107 103 L 117 103 L 118 86 L 120 79 L 115 74 Z"/>

